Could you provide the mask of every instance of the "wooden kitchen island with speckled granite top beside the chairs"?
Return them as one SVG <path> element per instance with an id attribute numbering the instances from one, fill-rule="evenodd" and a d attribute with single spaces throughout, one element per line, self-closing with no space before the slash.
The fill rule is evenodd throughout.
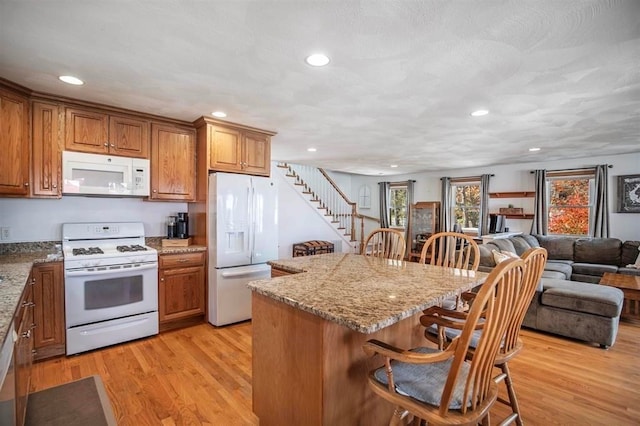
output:
<path id="1" fill-rule="evenodd" d="M 429 345 L 421 311 L 487 274 L 332 253 L 270 262 L 293 275 L 253 281 L 253 411 L 261 426 L 386 425 L 367 385 L 382 365 L 362 345 Z"/>

